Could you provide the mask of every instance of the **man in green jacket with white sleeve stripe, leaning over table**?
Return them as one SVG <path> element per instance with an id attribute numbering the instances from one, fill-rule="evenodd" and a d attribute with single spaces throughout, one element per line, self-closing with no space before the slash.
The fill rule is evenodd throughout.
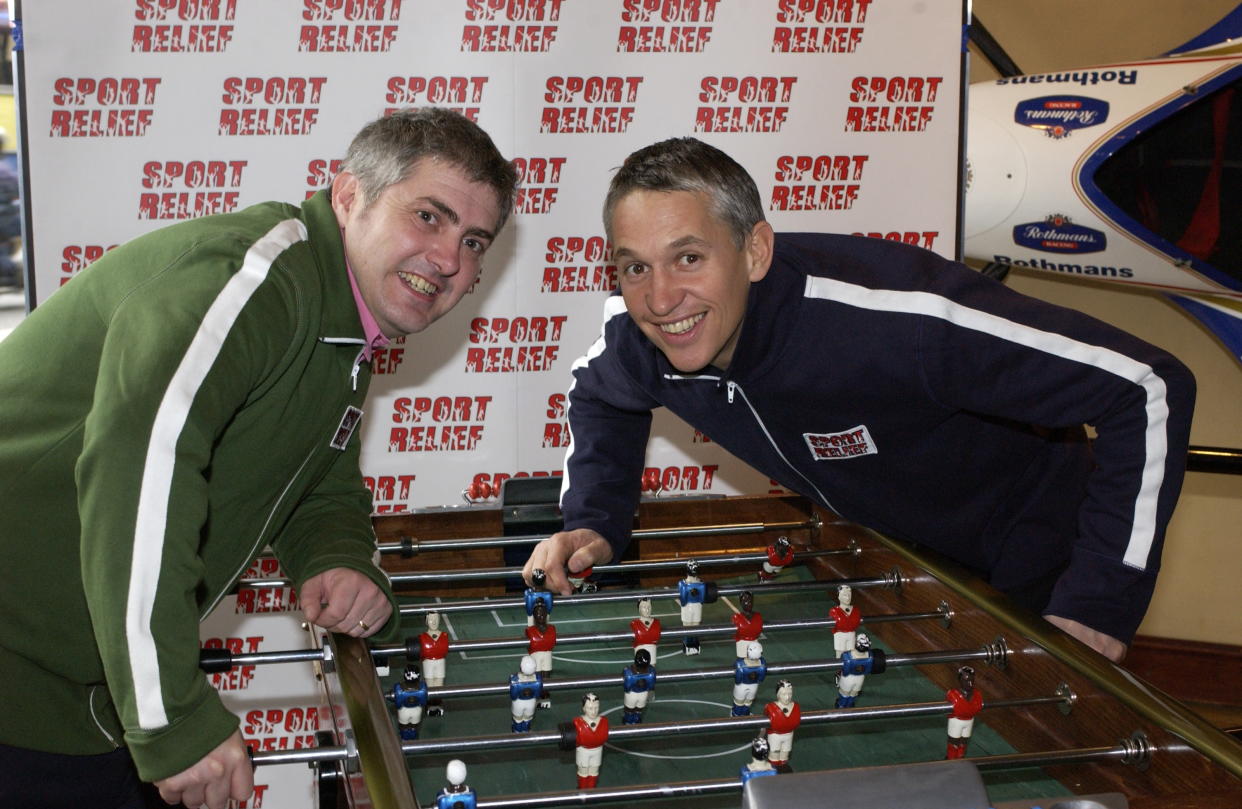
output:
<path id="1" fill-rule="evenodd" d="M 469 290 L 515 181 L 472 122 L 405 111 L 330 193 L 117 247 L 0 344 L 0 805 L 248 798 L 199 620 L 265 546 L 308 620 L 396 635 L 354 435 L 370 355 Z"/>

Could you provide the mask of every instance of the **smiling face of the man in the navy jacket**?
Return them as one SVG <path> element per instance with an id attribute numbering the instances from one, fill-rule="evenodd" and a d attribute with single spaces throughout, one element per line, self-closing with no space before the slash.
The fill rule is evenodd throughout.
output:
<path id="1" fill-rule="evenodd" d="M 638 190 L 612 213 L 612 256 L 630 317 L 668 362 L 727 369 L 750 285 L 768 275 L 773 230 L 758 222 L 738 249 L 699 191 Z"/>

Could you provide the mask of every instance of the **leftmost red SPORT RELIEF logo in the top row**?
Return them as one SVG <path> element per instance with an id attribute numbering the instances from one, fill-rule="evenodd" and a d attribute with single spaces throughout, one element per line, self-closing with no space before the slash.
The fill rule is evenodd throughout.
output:
<path id="1" fill-rule="evenodd" d="M 222 53 L 232 41 L 237 0 L 137 0 L 135 53 Z"/>

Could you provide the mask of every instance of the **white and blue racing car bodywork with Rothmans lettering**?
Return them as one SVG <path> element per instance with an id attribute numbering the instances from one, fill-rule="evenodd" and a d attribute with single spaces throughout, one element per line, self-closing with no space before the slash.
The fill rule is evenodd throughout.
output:
<path id="1" fill-rule="evenodd" d="M 1242 5 L 1159 58 L 971 85 L 965 254 L 1165 292 L 1242 359 Z"/>

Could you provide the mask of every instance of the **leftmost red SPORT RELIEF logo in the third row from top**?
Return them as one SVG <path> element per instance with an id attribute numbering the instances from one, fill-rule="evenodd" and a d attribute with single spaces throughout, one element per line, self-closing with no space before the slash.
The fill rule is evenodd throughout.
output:
<path id="1" fill-rule="evenodd" d="M 148 160 L 138 219 L 193 219 L 237 209 L 246 160 Z"/>

